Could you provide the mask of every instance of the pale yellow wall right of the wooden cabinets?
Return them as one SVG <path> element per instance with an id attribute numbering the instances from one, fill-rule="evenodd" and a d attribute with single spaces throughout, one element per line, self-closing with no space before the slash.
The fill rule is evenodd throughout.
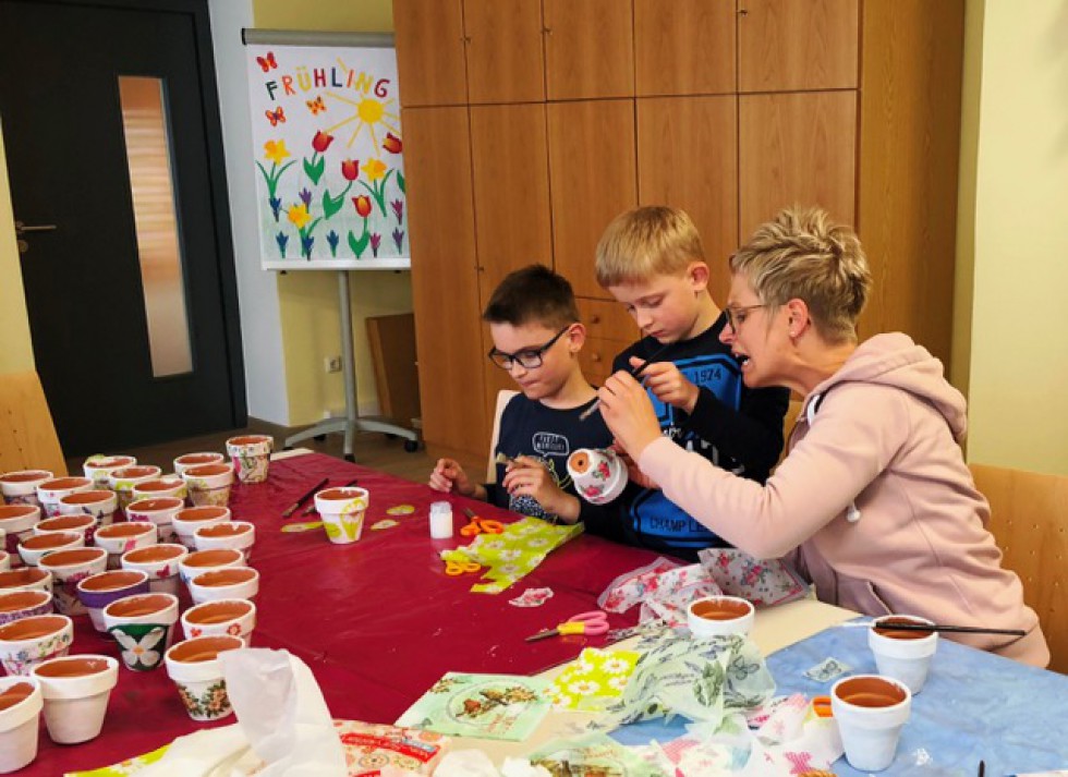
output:
<path id="1" fill-rule="evenodd" d="M 1068 474 L 1068 2 L 979 4 L 969 460 Z"/>

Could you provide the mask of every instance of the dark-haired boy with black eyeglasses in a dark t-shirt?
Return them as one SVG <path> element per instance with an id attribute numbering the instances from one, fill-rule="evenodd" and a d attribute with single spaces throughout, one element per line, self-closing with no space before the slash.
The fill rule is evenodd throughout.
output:
<path id="1" fill-rule="evenodd" d="M 494 340 L 489 359 L 520 389 L 500 416 L 497 482 L 475 483 L 458 462 L 440 459 L 430 487 L 524 515 L 567 523 L 581 519 L 587 530 L 610 534 L 616 521 L 579 499 L 567 471 L 573 451 L 611 444 L 599 413 L 580 418 L 597 393 L 579 365 L 586 330 L 571 284 L 542 265 L 524 267 L 500 282 L 482 317 Z"/>

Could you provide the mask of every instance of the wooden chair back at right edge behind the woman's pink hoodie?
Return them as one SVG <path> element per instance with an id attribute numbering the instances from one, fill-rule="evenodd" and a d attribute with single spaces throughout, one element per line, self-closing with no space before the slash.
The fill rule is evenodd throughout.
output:
<path id="1" fill-rule="evenodd" d="M 990 500 L 1004 564 L 1023 581 L 1049 643 L 1049 668 L 1068 673 L 1068 477 L 971 464 Z"/>

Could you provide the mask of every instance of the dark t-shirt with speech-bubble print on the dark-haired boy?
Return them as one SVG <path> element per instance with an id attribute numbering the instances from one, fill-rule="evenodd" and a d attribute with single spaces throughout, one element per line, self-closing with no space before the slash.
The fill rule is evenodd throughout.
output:
<path id="1" fill-rule="evenodd" d="M 585 421 L 579 420 L 594 401 L 596 400 L 590 400 L 578 408 L 556 410 L 530 400 L 522 393 L 512 397 L 500 416 L 500 435 L 494 454 L 503 453 L 512 459 L 519 456 L 537 459 L 553 474 L 562 490 L 578 497 L 574 483 L 568 474 L 568 458 L 579 448 L 607 448 L 612 440 L 611 432 L 605 426 L 600 413 L 594 412 Z M 499 484 L 505 472 L 506 465 L 498 463 L 497 483 L 486 484 L 487 501 L 523 515 L 555 520 L 556 517 L 546 514 L 534 498 L 513 497 L 502 488 Z M 596 534 L 610 531 L 604 508 L 591 505 L 581 497 L 579 503 L 579 520 L 586 524 L 587 531 Z M 611 513 L 615 514 L 615 510 Z"/>

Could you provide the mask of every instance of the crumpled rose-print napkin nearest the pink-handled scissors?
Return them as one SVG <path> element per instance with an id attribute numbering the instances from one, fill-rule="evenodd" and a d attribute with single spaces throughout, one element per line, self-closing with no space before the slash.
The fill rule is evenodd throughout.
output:
<path id="1" fill-rule="evenodd" d="M 597 605 L 609 612 L 623 612 L 640 604 L 639 622 L 660 620 L 678 629 L 687 624 L 687 607 L 693 599 L 721 593 L 700 563 L 679 567 L 658 558 L 616 578 L 597 598 Z"/>

